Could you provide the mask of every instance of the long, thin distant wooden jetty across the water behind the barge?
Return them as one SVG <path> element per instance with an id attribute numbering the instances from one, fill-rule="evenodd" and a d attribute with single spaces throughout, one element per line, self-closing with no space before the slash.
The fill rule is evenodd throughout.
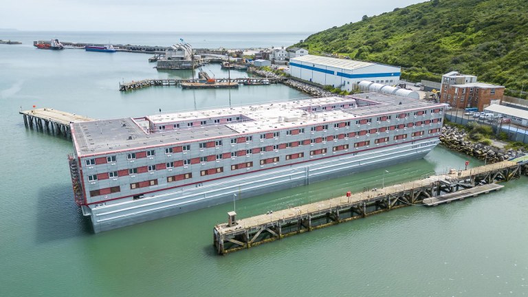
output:
<path id="1" fill-rule="evenodd" d="M 288 78 L 215 78 L 216 83 L 236 83 L 245 85 L 269 85 L 280 83 Z M 133 91 L 144 87 L 153 86 L 179 86 L 188 83 L 206 83 L 206 79 L 170 79 L 170 78 L 151 78 L 144 80 L 135 80 L 130 83 L 120 83 L 120 91 Z"/>

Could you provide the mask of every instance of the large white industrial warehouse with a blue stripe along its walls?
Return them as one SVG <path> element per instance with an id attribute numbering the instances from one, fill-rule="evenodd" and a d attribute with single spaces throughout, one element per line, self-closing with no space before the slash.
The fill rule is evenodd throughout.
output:
<path id="1" fill-rule="evenodd" d="M 306 55 L 289 60 L 290 74 L 320 85 L 351 91 L 362 80 L 397 85 L 401 68 L 397 66 Z"/>

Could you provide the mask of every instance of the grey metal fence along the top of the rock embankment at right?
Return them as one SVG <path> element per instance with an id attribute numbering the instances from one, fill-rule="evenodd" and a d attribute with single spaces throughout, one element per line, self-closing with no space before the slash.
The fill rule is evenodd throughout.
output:
<path id="1" fill-rule="evenodd" d="M 463 124 L 464 126 L 469 122 L 477 122 L 478 124 L 491 126 L 495 135 L 504 132 L 507 133 L 508 139 L 511 141 L 528 143 L 528 129 L 525 126 L 511 124 L 511 122 L 505 124 L 492 119 L 481 120 L 480 118 L 474 118 L 473 115 L 465 115 L 462 109 L 459 109 L 458 111 L 448 111 L 448 113 L 445 113 L 445 118 L 450 122 Z"/>

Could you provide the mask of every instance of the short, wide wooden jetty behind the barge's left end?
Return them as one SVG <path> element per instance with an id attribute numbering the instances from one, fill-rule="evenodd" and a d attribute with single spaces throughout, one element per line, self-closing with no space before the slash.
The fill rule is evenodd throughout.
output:
<path id="1" fill-rule="evenodd" d="M 33 129 L 33 122 L 36 129 L 47 130 L 58 135 L 71 136 L 69 124 L 74 122 L 89 122 L 94 119 L 84 115 L 76 115 L 66 111 L 58 111 L 51 108 L 31 109 L 19 112 L 24 117 L 26 127 Z"/>

